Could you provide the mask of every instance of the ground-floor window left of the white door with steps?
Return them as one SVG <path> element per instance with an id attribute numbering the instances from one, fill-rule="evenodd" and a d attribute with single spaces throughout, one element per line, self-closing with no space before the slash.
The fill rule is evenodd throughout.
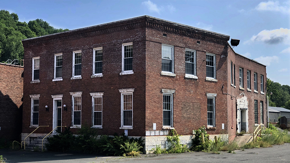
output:
<path id="1" fill-rule="evenodd" d="M 30 95 L 31 98 L 31 123 L 30 126 L 38 126 L 39 124 L 39 97 L 40 94 Z"/>

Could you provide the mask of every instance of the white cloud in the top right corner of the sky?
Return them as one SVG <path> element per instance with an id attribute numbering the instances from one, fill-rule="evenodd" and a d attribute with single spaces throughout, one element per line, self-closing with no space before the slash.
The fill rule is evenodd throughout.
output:
<path id="1" fill-rule="evenodd" d="M 276 11 L 282 13 L 289 13 L 290 9 L 288 6 L 281 6 L 279 1 L 268 1 L 261 2 L 255 8 L 258 11 Z"/>

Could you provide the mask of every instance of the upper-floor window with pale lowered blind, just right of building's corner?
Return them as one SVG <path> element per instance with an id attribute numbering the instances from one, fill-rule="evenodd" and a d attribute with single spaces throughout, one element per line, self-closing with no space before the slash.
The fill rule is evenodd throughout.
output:
<path id="1" fill-rule="evenodd" d="M 162 45 L 162 71 L 174 73 L 173 49 L 171 45 Z"/>

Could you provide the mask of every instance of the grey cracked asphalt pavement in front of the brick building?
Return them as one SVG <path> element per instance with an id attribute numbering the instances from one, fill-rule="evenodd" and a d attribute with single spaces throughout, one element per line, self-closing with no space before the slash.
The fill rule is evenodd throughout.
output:
<path id="1" fill-rule="evenodd" d="M 245 149 L 233 153 L 221 152 L 212 154 L 204 152 L 189 152 L 182 154 L 143 154 L 142 157 L 124 158 L 99 155 L 85 155 L 80 153 L 55 153 L 55 152 L 33 152 L 33 151 L 11 151 L 1 149 L 0 155 L 6 157 L 6 163 L 231 163 L 231 162 L 290 162 L 290 144 L 274 145 L 270 148 Z"/>

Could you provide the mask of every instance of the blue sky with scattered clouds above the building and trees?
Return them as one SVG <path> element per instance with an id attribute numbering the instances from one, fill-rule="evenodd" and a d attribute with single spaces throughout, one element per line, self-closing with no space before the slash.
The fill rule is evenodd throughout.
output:
<path id="1" fill-rule="evenodd" d="M 240 39 L 235 52 L 267 65 L 267 78 L 290 85 L 290 1 L 1 1 L 19 21 L 43 19 L 70 30 L 149 15 Z"/>

